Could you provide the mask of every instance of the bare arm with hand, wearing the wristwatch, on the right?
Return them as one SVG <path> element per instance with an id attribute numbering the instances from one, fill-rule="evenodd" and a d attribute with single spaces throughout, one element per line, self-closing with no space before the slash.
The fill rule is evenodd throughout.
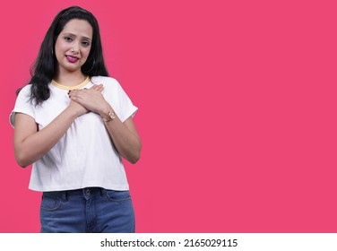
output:
<path id="1" fill-rule="evenodd" d="M 70 96 L 72 100 L 99 114 L 102 118 L 107 118 L 108 112 L 113 111 L 113 108 L 104 100 L 103 95 L 99 91 L 71 91 Z M 131 163 L 137 162 L 141 156 L 142 143 L 135 128 L 133 118 L 129 117 L 123 123 L 116 115 L 113 120 L 104 123 L 119 154 Z"/>

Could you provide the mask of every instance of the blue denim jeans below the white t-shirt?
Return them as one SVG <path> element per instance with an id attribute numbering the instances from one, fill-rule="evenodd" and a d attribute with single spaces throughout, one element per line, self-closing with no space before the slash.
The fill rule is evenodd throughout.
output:
<path id="1" fill-rule="evenodd" d="M 134 232 L 129 191 L 88 187 L 44 192 L 40 207 L 42 233 Z"/>

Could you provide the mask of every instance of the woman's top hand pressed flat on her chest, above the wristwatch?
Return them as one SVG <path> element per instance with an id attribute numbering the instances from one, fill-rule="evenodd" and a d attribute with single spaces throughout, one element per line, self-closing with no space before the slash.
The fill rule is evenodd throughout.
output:
<path id="1" fill-rule="evenodd" d="M 101 93 L 103 89 L 103 84 L 94 84 L 90 89 L 69 91 L 69 98 L 92 112 L 102 114 L 111 108 Z"/>

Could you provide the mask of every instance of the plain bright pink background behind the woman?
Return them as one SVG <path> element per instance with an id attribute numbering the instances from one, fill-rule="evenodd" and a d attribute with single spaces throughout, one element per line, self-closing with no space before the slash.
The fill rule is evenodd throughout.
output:
<path id="1" fill-rule="evenodd" d="M 13 157 L 14 91 L 56 13 L 99 20 L 139 112 L 125 162 L 137 232 L 336 232 L 335 1 L 7 1 L 1 23 L 0 232 L 38 232 Z"/>

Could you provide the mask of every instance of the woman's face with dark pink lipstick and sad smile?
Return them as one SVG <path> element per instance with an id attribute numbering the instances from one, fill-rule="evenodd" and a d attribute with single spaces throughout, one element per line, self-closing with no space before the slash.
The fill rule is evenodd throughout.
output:
<path id="1" fill-rule="evenodd" d="M 91 51 L 92 27 L 85 20 L 73 19 L 65 24 L 55 44 L 58 74 L 81 71 Z"/>

